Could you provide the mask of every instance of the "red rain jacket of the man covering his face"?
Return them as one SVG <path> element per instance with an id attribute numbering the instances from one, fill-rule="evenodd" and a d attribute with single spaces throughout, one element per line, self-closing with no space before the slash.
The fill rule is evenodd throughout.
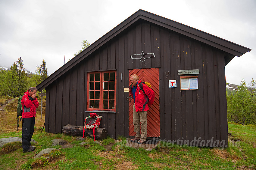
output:
<path id="1" fill-rule="evenodd" d="M 32 97 L 30 97 L 29 91 L 25 92 L 21 101 L 21 106 L 23 109 L 22 112 L 22 118 L 35 118 L 36 117 L 36 108 L 38 108 L 39 103 L 35 97 L 33 100 Z"/>

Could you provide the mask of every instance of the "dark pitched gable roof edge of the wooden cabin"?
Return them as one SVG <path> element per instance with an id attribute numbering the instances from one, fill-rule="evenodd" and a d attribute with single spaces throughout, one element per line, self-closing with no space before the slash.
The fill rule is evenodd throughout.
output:
<path id="1" fill-rule="evenodd" d="M 94 52 L 96 49 L 101 47 L 103 44 L 105 44 L 106 42 L 111 40 L 113 37 L 115 37 L 120 32 L 122 32 L 127 27 L 129 27 L 134 22 L 136 22 L 140 19 L 143 19 L 145 21 L 148 21 L 148 22 L 154 23 L 156 25 L 162 26 L 164 28 L 170 29 L 177 33 L 183 34 L 187 37 L 191 37 L 195 40 L 201 41 L 203 43 L 206 43 L 210 46 L 216 47 L 217 49 L 220 49 L 220 50 L 223 50 L 223 51 L 229 53 L 229 55 L 227 55 L 225 57 L 225 65 L 228 64 L 229 61 L 231 61 L 231 59 L 234 56 L 240 57 L 241 55 L 243 55 L 246 52 L 251 50 L 244 46 L 240 46 L 236 43 L 232 43 L 230 41 L 227 41 L 222 38 L 216 37 L 214 35 L 208 34 L 206 32 L 200 31 L 198 29 L 189 27 L 189 26 L 181 24 L 179 22 L 175 22 L 173 20 L 164 18 L 162 16 L 155 15 L 153 13 L 149 13 L 144 10 L 138 10 L 136 13 L 134 13 L 129 18 L 127 18 L 126 20 L 121 22 L 119 25 L 117 25 L 115 28 L 113 28 L 111 31 L 109 31 L 108 33 L 103 35 L 97 41 L 92 43 L 89 47 L 84 49 L 82 52 L 80 52 L 78 55 L 76 55 L 74 58 L 72 58 L 70 61 L 68 61 L 66 64 L 64 64 L 62 67 L 60 67 L 58 70 L 56 70 L 54 73 L 52 73 L 43 82 L 41 82 L 39 85 L 37 85 L 36 87 L 37 87 L 38 91 L 41 91 L 42 89 L 46 88 L 48 85 L 50 85 L 56 79 L 58 79 L 60 76 L 62 76 L 68 70 L 70 70 L 73 66 L 78 64 L 80 61 L 82 61 L 88 55 L 92 54 L 92 52 Z"/>

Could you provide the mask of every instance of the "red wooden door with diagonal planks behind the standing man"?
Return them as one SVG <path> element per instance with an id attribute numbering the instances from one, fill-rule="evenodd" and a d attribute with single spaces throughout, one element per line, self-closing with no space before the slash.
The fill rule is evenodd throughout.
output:
<path id="1" fill-rule="evenodd" d="M 159 70 L 158 68 L 129 70 L 129 77 L 133 74 L 139 76 L 141 81 L 149 82 L 155 91 L 154 103 L 149 106 L 147 113 L 147 137 L 160 137 L 160 117 L 159 117 Z M 135 136 L 133 129 L 133 99 L 129 103 L 129 135 Z"/>

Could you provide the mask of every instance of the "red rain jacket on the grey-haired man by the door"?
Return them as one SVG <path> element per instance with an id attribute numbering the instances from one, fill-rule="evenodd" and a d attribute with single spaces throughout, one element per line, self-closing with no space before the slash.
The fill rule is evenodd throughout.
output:
<path id="1" fill-rule="evenodd" d="M 137 88 L 136 88 L 136 92 L 135 92 L 135 111 L 136 112 L 142 112 L 143 105 L 146 102 L 145 94 L 148 96 L 149 101 L 146 104 L 144 111 L 148 111 L 148 105 L 153 104 L 154 97 L 155 97 L 155 92 L 150 87 L 148 87 L 147 85 L 144 85 L 144 84 L 143 84 L 142 88 L 145 91 L 145 94 L 143 94 L 143 91 L 140 90 L 140 88 L 139 88 L 140 82 L 141 81 L 139 80 L 136 85 Z M 130 94 L 133 96 L 132 90 L 130 90 Z"/>

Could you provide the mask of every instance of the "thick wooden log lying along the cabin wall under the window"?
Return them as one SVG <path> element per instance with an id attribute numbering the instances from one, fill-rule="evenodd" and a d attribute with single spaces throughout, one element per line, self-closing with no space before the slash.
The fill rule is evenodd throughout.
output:
<path id="1" fill-rule="evenodd" d="M 69 136 L 79 136 L 79 137 L 83 137 L 83 126 L 75 126 L 75 125 L 71 125 L 71 124 L 67 124 L 65 126 L 63 126 L 62 128 L 62 133 L 64 135 L 69 135 Z M 86 129 L 84 132 L 84 136 L 90 136 L 93 138 L 93 130 L 89 130 Z M 102 140 L 104 138 L 107 138 L 107 129 L 103 128 L 103 127 L 98 127 L 95 129 L 95 139 L 96 140 Z"/>

